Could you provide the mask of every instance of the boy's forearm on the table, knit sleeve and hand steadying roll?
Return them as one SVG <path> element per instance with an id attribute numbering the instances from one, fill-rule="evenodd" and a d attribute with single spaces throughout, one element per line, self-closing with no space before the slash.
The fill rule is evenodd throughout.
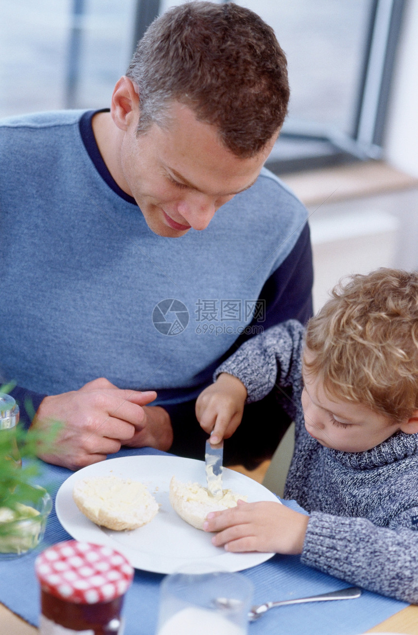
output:
<path id="1" fill-rule="evenodd" d="M 418 518 L 418 508 L 408 515 Z M 211 512 L 205 531 L 226 551 L 301 554 L 301 562 L 369 591 L 418 603 L 418 531 L 377 527 L 365 518 L 305 516 L 274 502 Z"/>

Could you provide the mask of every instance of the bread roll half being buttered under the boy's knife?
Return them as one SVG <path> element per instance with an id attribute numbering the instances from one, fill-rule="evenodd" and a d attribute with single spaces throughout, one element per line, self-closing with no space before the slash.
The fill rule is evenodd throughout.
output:
<path id="1" fill-rule="evenodd" d="M 231 490 L 223 490 L 223 496 L 215 498 L 199 483 L 181 483 L 175 476 L 170 481 L 171 506 L 180 518 L 196 529 L 203 529 L 209 512 L 236 507 L 238 499 L 247 500 L 247 497 Z"/>

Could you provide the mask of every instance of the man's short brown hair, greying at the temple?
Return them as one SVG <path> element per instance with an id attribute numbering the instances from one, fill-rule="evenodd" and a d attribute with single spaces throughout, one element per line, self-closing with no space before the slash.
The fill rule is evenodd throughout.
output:
<path id="1" fill-rule="evenodd" d="M 218 128 L 235 155 L 251 157 L 283 124 L 287 64 L 273 29 L 234 3 L 190 2 L 154 20 L 126 72 L 138 86 L 138 133 L 164 125 L 177 101 Z"/>

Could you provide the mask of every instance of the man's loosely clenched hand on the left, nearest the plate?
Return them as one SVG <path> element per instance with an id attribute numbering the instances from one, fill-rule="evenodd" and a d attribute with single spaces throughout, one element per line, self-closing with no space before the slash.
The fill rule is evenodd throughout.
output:
<path id="1" fill-rule="evenodd" d="M 31 429 L 48 429 L 51 421 L 61 422 L 63 427 L 52 450 L 40 453 L 39 458 L 75 470 L 104 460 L 108 454 L 119 451 L 122 445 L 131 443 L 141 432 L 144 443 L 139 440 L 136 447 L 151 441 L 158 444 L 159 436 L 153 430 L 157 418 L 148 417 L 142 407 L 156 396 L 154 391 L 119 389 L 101 377 L 78 391 L 44 398 Z M 171 425 L 169 427 L 171 429 Z"/>

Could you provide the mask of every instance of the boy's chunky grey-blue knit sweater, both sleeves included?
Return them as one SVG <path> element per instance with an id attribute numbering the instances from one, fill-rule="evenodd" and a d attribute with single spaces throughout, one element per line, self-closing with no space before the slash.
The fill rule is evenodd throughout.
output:
<path id="1" fill-rule="evenodd" d="M 248 402 L 274 390 L 296 422 L 285 486 L 310 513 L 301 560 L 370 591 L 418 603 L 418 434 L 365 452 L 325 448 L 304 429 L 303 327 L 291 320 L 245 342 L 214 377 L 238 377 Z"/>

